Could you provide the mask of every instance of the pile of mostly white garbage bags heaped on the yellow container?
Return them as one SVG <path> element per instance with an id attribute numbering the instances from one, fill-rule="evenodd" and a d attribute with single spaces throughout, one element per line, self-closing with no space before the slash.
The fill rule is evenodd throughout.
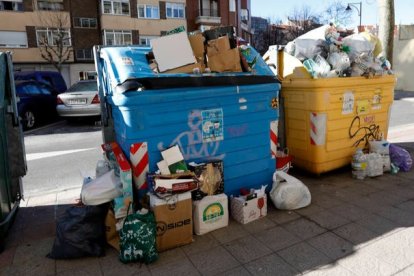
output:
<path id="1" fill-rule="evenodd" d="M 378 37 L 369 32 L 341 37 L 332 23 L 297 37 L 285 52 L 302 61 L 312 78 L 393 74 Z"/>

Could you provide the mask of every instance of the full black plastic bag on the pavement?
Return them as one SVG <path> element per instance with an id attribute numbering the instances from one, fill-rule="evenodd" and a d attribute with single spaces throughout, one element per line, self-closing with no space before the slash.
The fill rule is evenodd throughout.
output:
<path id="1" fill-rule="evenodd" d="M 108 204 L 76 205 L 66 209 L 56 223 L 51 259 L 105 255 L 105 217 Z"/>

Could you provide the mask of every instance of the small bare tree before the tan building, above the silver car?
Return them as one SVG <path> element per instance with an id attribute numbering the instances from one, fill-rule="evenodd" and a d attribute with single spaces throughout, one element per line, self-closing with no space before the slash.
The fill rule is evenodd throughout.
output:
<path id="1" fill-rule="evenodd" d="M 70 38 L 69 15 L 50 12 L 39 18 L 41 28 L 37 29 L 40 54 L 60 73 L 62 65 L 68 62 L 73 53 Z"/>

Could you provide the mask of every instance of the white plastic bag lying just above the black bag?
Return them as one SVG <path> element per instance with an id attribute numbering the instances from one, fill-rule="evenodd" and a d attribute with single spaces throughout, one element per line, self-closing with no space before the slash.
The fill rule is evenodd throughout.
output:
<path id="1" fill-rule="evenodd" d="M 82 185 L 81 199 L 85 205 L 99 205 L 122 195 L 121 181 L 114 170 Z"/>

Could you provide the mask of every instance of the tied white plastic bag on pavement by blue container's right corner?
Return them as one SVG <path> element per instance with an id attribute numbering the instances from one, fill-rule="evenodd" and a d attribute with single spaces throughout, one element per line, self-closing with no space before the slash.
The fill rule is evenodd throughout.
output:
<path id="1" fill-rule="evenodd" d="M 273 174 L 273 186 L 269 196 L 276 208 L 281 210 L 295 210 L 311 203 L 308 187 L 283 171 Z"/>

